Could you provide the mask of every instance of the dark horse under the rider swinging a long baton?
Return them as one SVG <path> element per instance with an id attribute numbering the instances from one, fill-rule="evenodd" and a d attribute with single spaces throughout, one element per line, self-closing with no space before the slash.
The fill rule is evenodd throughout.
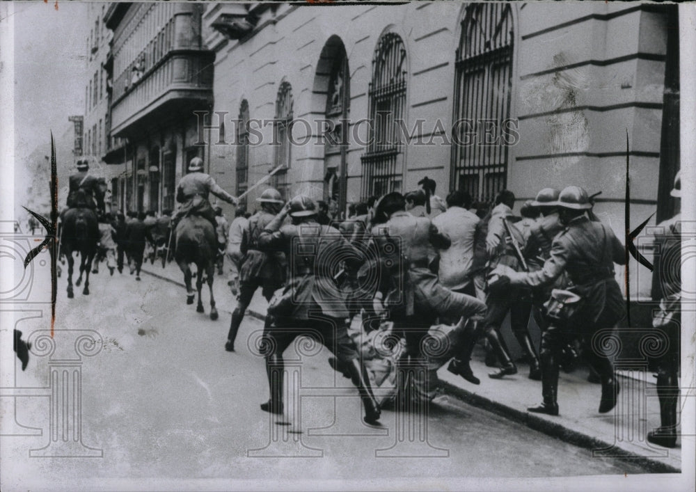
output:
<path id="1" fill-rule="evenodd" d="M 200 299 L 200 290 L 203 288 L 203 274 L 207 276 L 207 284 L 210 290 L 210 319 L 218 319 L 213 296 L 213 280 L 215 278 L 215 260 L 217 257 L 217 236 L 215 230 L 205 217 L 189 214 L 181 219 L 176 226 L 176 249 L 174 259 L 184 273 L 186 284 L 186 303 L 193 304 L 196 292 L 191 286 L 190 265 L 196 264 L 196 290 L 198 290 L 198 305 L 196 311 L 204 312 L 203 302 Z"/>

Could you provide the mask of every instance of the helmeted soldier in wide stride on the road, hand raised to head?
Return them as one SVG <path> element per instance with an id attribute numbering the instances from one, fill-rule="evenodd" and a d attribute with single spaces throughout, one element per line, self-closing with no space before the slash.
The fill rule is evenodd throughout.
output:
<path id="1" fill-rule="evenodd" d="M 287 214 L 292 224 L 283 225 Z M 340 232 L 317 223 L 317 205 L 307 196 L 296 196 L 266 225 L 258 237 L 260 250 L 282 250 L 292 256 L 283 295 L 269 306 L 274 320 L 265 329 L 266 368 L 271 398 L 261 409 L 283 412 L 283 351 L 300 335 L 313 335 L 340 361 L 358 388 L 365 416 L 374 424 L 379 420 L 379 405 L 372 394 L 365 366 L 358 360 L 354 343 L 348 336 L 345 301 L 333 282 L 331 262 L 336 257 L 357 261 L 357 251 Z"/>

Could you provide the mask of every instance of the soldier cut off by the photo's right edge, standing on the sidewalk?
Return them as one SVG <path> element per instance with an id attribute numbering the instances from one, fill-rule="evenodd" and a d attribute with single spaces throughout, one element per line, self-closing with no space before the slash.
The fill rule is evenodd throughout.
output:
<path id="1" fill-rule="evenodd" d="M 671 196 L 681 198 L 681 171 L 674 180 Z M 658 224 L 655 235 L 656 255 L 653 272 L 653 299 L 660 310 L 653 326 L 662 331 L 666 353 L 650 360 L 657 370 L 657 395 L 660 402 L 660 427 L 647 435 L 650 443 L 677 445 L 677 399 L 679 399 L 679 348 L 681 327 L 681 212 Z"/>

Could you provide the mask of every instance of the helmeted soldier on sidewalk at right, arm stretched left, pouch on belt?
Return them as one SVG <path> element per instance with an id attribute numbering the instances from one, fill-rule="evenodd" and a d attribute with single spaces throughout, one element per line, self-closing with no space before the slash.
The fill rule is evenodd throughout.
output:
<path id="1" fill-rule="evenodd" d="M 612 230 L 599 221 L 590 221 L 592 209 L 587 192 L 567 187 L 558 197 L 560 221 L 565 228 L 553 239 L 551 253 L 539 271 L 518 272 L 499 265 L 491 272 L 489 289 L 507 291 L 510 286 L 544 287 L 552 285 L 567 271 L 575 294 L 581 301 L 574 312 L 567 312 L 562 323 L 552 322 L 541 335 L 541 394 L 544 401 L 528 408 L 535 413 L 558 415 L 557 388 L 559 356 L 565 339 L 572 333 L 587 340 L 602 328 L 612 328 L 626 315 L 624 298 L 614 278 L 614 263 L 624 264 L 624 246 Z M 602 383 L 599 413 L 616 405 L 619 383 L 614 366 L 605 354 L 588 351 L 590 363 Z"/>

